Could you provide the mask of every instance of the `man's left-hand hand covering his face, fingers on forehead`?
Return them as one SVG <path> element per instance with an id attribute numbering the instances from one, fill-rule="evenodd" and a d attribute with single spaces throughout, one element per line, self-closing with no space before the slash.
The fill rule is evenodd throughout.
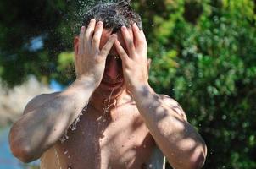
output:
<path id="1" fill-rule="evenodd" d="M 79 45 L 75 47 L 75 73 L 76 78 L 83 76 L 92 78 L 96 87 L 103 79 L 106 57 L 114 45 L 116 35 L 110 35 L 109 41 L 99 49 L 100 39 L 103 34 L 103 22 L 92 19 L 87 29 L 82 26 L 79 35 Z"/>

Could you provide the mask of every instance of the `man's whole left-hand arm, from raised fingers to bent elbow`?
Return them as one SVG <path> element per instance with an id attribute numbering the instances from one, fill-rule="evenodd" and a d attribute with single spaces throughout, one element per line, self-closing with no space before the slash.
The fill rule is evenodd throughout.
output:
<path id="1" fill-rule="evenodd" d="M 63 92 L 52 95 L 53 98 L 43 98 L 47 95 L 35 98 L 26 106 L 25 114 L 14 123 L 9 133 L 9 144 L 20 161 L 36 160 L 53 146 L 79 116 L 100 84 L 106 57 L 116 38 L 116 35 L 110 36 L 100 50 L 102 32 L 103 23 L 96 25 L 95 19 L 86 30 L 84 26 L 81 28 L 79 39 L 75 38 L 75 82 Z"/>

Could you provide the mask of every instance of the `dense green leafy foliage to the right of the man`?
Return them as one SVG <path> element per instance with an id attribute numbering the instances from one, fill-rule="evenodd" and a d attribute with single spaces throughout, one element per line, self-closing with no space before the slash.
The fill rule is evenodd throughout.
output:
<path id="1" fill-rule="evenodd" d="M 166 56 L 159 52 L 153 57 L 152 84 L 159 92 L 169 90 L 203 135 L 209 148 L 205 168 L 255 168 L 255 3 L 184 1 L 202 6 L 195 22 L 185 15 L 193 8 L 178 2 L 167 18 L 154 17 L 160 45 L 150 43 L 150 52 L 175 51 L 178 68 L 166 70 L 159 63 Z"/>

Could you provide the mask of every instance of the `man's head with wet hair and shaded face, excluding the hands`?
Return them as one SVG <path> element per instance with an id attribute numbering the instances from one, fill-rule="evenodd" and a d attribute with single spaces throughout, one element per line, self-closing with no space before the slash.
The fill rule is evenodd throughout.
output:
<path id="1" fill-rule="evenodd" d="M 120 31 L 123 25 L 131 28 L 131 25 L 136 23 L 139 29 L 142 30 L 141 17 L 132 10 L 130 1 L 97 4 L 84 15 L 83 25 L 88 27 L 91 19 L 96 19 L 96 22 L 103 22 L 104 29 L 100 40 L 100 50 L 109 40 L 109 36 L 116 33 L 117 40 L 120 41 L 121 46 L 123 46 L 126 51 L 125 41 Z M 133 36 L 131 29 L 129 29 L 129 32 L 130 35 Z M 109 96 L 109 92 L 114 90 L 113 93 L 111 92 L 114 96 L 119 95 L 120 92 L 125 89 L 122 64 L 120 58 L 116 59 L 117 55 L 115 46 L 113 46 L 106 60 L 102 83 L 97 88 L 96 93 Z"/>

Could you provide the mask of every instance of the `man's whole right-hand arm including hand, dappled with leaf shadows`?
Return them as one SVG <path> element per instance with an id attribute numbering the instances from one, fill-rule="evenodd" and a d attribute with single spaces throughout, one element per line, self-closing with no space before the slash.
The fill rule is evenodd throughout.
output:
<path id="1" fill-rule="evenodd" d="M 127 52 L 119 41 L 115 41 L 115 47 L 122 59 L 125 83 L 153 139 L 171 166 L 202 167 L 207 151 L 203 139 L 186 122 L 186 115 L 176 101 L 157 95 L 148 85 L 147 41 L 143 31 L 136 24 L 129 29 L 123 26 L 121 31 Z"/>

